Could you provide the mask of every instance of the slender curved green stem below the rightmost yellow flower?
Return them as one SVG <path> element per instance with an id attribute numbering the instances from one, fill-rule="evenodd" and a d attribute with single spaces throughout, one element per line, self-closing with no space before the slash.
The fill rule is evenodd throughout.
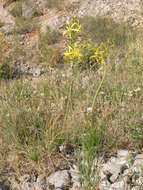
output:
<path id="1" fill-rule="evenodd" d="M 106 64 L 104 64 L 103 77 L 102 77 L 102 80 L 101 80 L 101 82 L 100 82 L 100 84 L 99 84 L 99 86 L 98 86 L 98 88 L 97 88 L 97 90 L 95 92 L 95 95 L 94 95 L 94 98 L 93 98 L 93 102 L 92 102 L 92 111 L 91 111 L 91 128 L 92 129 L 94 127 L 94 107 L 95 107 L 95 103 L 96 103 L 96 98 L 97 98 L 97 96 L 99 94 L 99 91 L 101 89 L 101 86 L 102 86 L 102 84 L 104 82 L 105 76 L 106 76 Z"/>

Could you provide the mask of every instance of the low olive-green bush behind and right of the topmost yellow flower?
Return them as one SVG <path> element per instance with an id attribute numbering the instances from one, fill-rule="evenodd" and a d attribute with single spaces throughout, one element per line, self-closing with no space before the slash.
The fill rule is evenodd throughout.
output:
<path id="1" fill-rule="evenodd" d="M 117 47 L 126 48 L 128 42 L 135 39 L 135 32 L 127 23 L 118 24 L 110 17 L 85 16 L 81 22 L 85 37 L 98 43 L 111 41 Z"/>

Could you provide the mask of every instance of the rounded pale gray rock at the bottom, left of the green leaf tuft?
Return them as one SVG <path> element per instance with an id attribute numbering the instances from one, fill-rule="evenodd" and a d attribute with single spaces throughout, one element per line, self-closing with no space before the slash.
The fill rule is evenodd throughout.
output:
<path id="1" fill-rule="evenodd" d="M 48 184 L 56 189 L 63 189 L 70 186 L 70 175 L 67 170 L 57 171 L 48 177 Z"/>

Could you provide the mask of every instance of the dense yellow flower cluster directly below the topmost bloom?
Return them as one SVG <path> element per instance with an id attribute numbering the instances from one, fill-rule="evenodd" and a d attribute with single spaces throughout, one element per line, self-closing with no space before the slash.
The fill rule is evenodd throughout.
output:
<path id="1" fill-rule="evenodd" d="M 81 61 L 83 55 L 81 53 L 80 48 L 78 47 L 77 43 L 74 43 L 73 46 L 68 46 L 68 49 L 64 53 L 65 59 L 75 60 L 77 59 L 79 62 Z"/>

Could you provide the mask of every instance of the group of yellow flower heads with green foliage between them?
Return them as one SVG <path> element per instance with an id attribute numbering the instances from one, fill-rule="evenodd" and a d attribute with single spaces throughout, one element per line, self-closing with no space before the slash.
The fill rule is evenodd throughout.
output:
<path id="1" fill-rule="evenodd" d="M 66 31 L 63 33 L 67 45 L 64 53 L 66 61 L 70 61 L 71 65 L 80 65 L 82 68 L 98 68 L 99 64 L 105 63 L 108 50 L 103 43 L 95 45 L 90 41 L 82 42 L 78 39 L 81 31 L 81 24 L 73 19 L 71 24 L 67 23 Z"/>

